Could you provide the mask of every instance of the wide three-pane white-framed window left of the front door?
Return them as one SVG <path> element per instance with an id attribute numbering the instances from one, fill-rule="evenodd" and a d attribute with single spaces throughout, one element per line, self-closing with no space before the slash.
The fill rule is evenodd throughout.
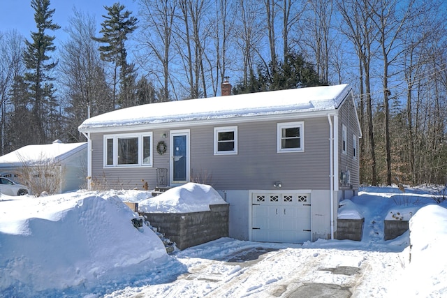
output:
<path id="1" fill-rule="evenodd" d="M 152 166 L 152 133 L 104 136 L 104 166 Z"/>

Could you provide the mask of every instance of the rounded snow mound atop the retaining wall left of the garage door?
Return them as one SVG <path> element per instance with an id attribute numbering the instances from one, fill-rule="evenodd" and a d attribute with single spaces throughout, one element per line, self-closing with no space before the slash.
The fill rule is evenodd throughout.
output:
<path id="1" fill-rule="evenodd" d="M 226 204 L 209 185 L 188 183 L 171 188 L 154 198 L 138 203 L 138 211 L 147 213 L 188 213 L 210 211 L 210 204 Z"/>

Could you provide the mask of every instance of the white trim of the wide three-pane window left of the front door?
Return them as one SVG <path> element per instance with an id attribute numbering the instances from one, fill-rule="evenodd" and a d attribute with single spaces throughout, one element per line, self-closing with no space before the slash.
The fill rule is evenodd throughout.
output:
<path id="1" fill-rule="evenodd" d="M 119 165 L 118 164 L 118 139 L 120 138 L 131 138 L 138 137 L 138 163 L 133 165 Z M 143 156 L 143 137 L 150 137 L 150 161 L 149 163 L 142 163 Z M 113 164 L 107 164 L 107 140 L 113 140 Z M 118 135 L 104 135 L 104 145 L 103 145 L 103 167 L 152 167 L 154 161 L 154 137 L 152 132 L 148 133 L 122 133 Z"/>

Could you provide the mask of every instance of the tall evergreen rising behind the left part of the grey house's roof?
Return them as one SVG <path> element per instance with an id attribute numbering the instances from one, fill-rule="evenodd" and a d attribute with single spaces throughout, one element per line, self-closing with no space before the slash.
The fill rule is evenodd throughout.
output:
<path id="1" fill-rule="evenodd" d="M 94 40 L 105 43 L 101 45 L 101 59 L 113 63 L 113 105 L 117 104 L 117 85 L 120 83 L 120 103 L 127 105 L 127 100 L 133 100 L 135 90 L 135 66 L 127 63 L 127 51 L 125 42 L 129 34 L 135 31 L 138 22 L 136 17 L 131 16 L 129 10 L 124 10 L 124 5 L 119 2 L 113 6 L 104 6 L 108 14 L 103 15 L 104 22 L 101 23 L 102 37 Z M 118 77 L 119 71 L 119 77 Z M 119 79 L 119 82 L 118 82 Z"/>

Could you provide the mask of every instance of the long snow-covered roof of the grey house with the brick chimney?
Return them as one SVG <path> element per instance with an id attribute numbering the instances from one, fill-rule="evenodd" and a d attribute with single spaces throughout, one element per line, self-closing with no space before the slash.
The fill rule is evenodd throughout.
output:
<path id="1" fill-rule="evenodd" d="M 127 107 L 85 120 L 79 131 L 335 110 L 348 84 L 170 101 Z"/>

